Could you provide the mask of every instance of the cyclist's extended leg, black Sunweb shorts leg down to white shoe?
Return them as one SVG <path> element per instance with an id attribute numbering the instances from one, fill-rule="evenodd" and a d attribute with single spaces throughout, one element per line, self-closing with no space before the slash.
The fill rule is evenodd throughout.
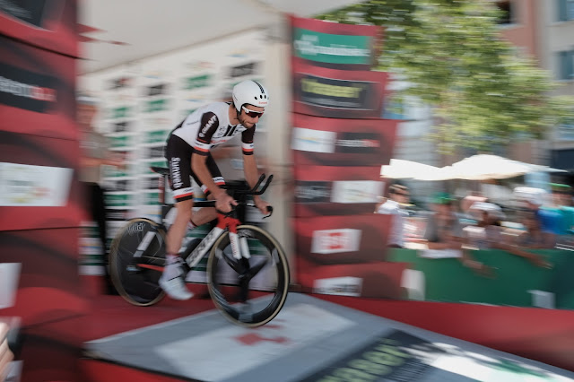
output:
<path id="1" fill-rule="evenodd" d="M 193 293 L 187 291 L 179 248 L 191 220 L 194 193 L 191 185 L 192 148 L 176 135 L 170 135 L 166 159 L 170 165 L 170 186 L 176 201 L 176 218 L 166 237 L 166 266 L 161 274 L 160 286 L 172 298 L 187 300 Z"/>

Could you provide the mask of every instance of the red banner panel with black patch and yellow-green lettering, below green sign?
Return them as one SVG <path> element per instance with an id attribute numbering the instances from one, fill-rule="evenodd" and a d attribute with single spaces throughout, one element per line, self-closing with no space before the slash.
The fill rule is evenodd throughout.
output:
<path id="1" fill-rule="evenodd" d="M 317 117 L 379 118 L 388 74 L 345 71 L 293 60 L 293 111 Z"/>

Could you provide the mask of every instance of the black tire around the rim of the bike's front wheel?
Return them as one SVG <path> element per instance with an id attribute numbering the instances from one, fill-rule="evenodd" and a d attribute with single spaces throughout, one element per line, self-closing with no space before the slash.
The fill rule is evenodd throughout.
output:
<path id="1" fill-rule="evenodd" d="M 267 317 L 265 317 L 264 320 L 259 320 L 257 322 L 240 321 L 239 319 L 236 319 L 235 317 L 230 316 L 230 314 L 228 313 L 228 310 L 227 310 L 228 307 L 225 307 L 222 305 L 221 301 L 215 295 L 217 290 L 213 286 L 212 274 L 213 274 L 213 271 L 216 270 L 216 268 L 213 265 L 214 265 L 214 262 L 217 261 L 217 260 L 215 260 L 217 249 L 218 248 L 223 249 L 224 247 L 227 247 L 227 245 L 229 245 L 228 243 L 229 243 L 230 239 L 229 239 L 229 232 L 227 232 L 227 231 L 224 232 L 222 234 L 222 236 L 219 239 L 217 239 L 217 241 L 213 244 L 213 247 L 212 247 L 210 254 L 209 254 L 209 258 L 207 259 L 206 273 L 207 273 L 208 290 L 209 290 L 210 296 L 213 300 L 213 303 L 215 304 L 215 307 L 218 308 L 218 310 L 222 313 L 223 317 L 230 320 L 230 322 L 232 322 L 236 325 L 239 325 L 239 326 L 246 326 L 246 327 L 263 326 L 266 323 L 268 323 L 269 321 L 271 321 L 272 319 L 274 319 L 274 317 L 276 317 L 279 314 L 279 312 L 281 311 L 281 309 L 285 305 L 285 301 L 287 300 L 287 294 L 289 292 L 289 285 L 291 282 L 289 261 L 287 260 L 287 256 L 285 256 L 285 252 L 283 250 L 283 247 L 281 247 L 281 244 L 279 244 L 279 242 L 276 239 L 274 239 L 274 237 L 269 232 L 267 232 L 266 230 L 263 230 L 257 226 L 248 225 L 248 224 L 238 226 L 237 230 L 238 231 L 239 230 L 254 230 L 258 234 L 264 236 L 265 239 L 269 240 L 271 242 L 271 244 L 273 245 L 273 247 L 276 249 L 278 261 L 282 264 L 282 268 L 283 268 L 283 285 L 281 285 L 281 286 L 278 285 L 278 288 L 282 289 L 282 291 L 280 291 L 279 303 L 276 305 L 276 307 L 271 312 L 271 314 L 269 314 Z M 280 275 L 278 274 L 278 276 L 280 276 Z"/>

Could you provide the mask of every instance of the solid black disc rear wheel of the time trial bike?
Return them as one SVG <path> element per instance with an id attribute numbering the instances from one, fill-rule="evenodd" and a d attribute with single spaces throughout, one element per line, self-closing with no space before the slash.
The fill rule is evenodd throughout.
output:
<path id="1" fill-rule="evenodd" d="M 155 235 L 142 256 L 134 258 L 137 247 L 148 232 Z M 143 265 L 143 266 L 141 266 Z M 129 303 L 149 306 L 160 301 L 164 292 L 158 284 L 165 265 L 165 231 L 158 223 L 136 218 L 117 232 L 109 249 L 111 280 L 119 294 Z"/>

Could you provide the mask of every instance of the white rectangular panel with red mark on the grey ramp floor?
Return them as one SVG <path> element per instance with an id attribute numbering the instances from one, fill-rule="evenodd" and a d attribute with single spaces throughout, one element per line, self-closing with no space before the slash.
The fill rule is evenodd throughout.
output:
<path id="1" fill-rule="evenodd" d="M 153 351 L 162 359 L 170 360 L 174 372 L 185 370 L 182 375 L 220 381 L 306 348 L 354 325 L 351 320 L 324 309 L 298 304 L 283 308 L 279 316 L 266 326 L 256 329 L 225 326 L 165 343 Z M 183 353 L 187 357 L 181 357 Z"/>

